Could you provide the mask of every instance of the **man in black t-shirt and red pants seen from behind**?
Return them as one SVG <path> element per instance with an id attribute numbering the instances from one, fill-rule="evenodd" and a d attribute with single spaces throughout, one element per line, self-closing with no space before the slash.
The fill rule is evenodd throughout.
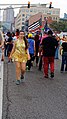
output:
<path id="1" fill-rule="evenodd" d="M 50 76 L 54 77 L 54 56 L 55 50 L 58 46 L 58 42 L 53 37 L 53 32 L 51 30 L 48 31 L 48 37 L 44 38 L 42 41 L 42 49 L 44 56 L 44 77 L 48 78 L 48 67 L 50 64 Z"/>

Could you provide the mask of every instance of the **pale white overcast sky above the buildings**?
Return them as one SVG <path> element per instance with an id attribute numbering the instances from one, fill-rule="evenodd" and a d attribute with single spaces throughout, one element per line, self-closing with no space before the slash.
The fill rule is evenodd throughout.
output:
<path id="1" fill-rule="evenodd" d="M 64 13 L 67 13 L 67 0 L 0 0 L 0 4 L 27 4 L 30 1 L 30 4 L 49 4 L 52 2 L 52 7 L 60 8 L 60 17 L 64 17 Z M 0 5 L 0 8 L 4 8 L 4 6 Z M 15 10 L 15 16 L 19 12 L 18 9 Z M 2 11 L 0 13 L 2 17 Z"/>

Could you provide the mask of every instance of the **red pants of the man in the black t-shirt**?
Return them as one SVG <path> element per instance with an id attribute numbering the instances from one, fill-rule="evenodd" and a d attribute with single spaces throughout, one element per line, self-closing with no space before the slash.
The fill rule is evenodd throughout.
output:
<path id="1" fill-rule="evenodd" d="M 54 57 L 44 57 L 44 75 L 48 75 L 48 67 L 50 64 L 50 72 L 54 73 Z"/>

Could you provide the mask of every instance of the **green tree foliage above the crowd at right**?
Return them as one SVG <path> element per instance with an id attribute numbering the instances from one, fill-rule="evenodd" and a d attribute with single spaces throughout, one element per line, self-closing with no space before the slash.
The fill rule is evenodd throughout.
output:
<path id="1" fill-rule="evenodd" d="M 54 31 L 67 32 L 67 21 L 59 21 L 59 22 L 54 21 L 50 24 L 50 27 Z"/>

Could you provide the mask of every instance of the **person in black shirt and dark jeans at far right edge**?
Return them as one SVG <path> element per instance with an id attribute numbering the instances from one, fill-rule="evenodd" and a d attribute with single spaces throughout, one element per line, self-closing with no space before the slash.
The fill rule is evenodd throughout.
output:
<path id="1" fill-rule="evenodd" d="M 63 50 L 61 72 L 63 72 L 64 71 L 64 64 L 66 64 L 65 71 L 67 71 L 67 41 L 62 43 L 61 49 Z"/>

